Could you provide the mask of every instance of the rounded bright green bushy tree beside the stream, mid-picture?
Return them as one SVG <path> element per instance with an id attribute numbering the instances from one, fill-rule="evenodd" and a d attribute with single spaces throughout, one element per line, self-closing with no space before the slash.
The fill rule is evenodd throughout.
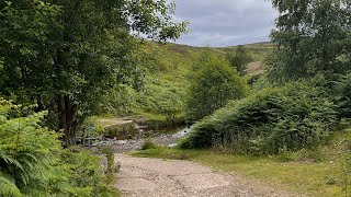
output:
<path id="1" fill-rule="evenodd" d="M 225 106 L 229 100 L 241 99 L 247 84 L 224 59 L 206 53 L 189 86 L 186 111 L 191 119 L 201 119 Z"/>

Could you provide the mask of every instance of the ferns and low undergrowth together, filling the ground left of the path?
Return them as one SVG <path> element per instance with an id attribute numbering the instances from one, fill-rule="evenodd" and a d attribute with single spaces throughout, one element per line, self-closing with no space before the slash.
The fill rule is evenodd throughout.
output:
<path id="1" fill-rule="evenodd" d="M 0 196 L 113 196 L 99 158 L 64 150 L 45 115 L 0 100 Z"/>

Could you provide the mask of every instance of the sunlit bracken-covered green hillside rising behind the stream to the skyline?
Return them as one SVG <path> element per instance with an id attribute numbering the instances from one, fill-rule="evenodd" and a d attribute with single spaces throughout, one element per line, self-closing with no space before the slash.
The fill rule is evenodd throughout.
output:
<path id="1" fill-rule="evenodd" d="M 272 51 L 271 43 L 245 45 L 252 62 L 248 63 L 248 78 L 263 72 L 264 58 Z M 236 53 L 237 46 L 194 47 L 179 44 L 143 43 L 139 48 L 145 81 L 141 90 L 131 88 L 112 93 L 112 101 L 105 106 L 109 114 L 103 121 L 120 116 L 133 116 L 148 124 L 179 125 L 184 124 L 184 102 L 191 72 L 199 69 L 201 59 L 206 53 L 222 58 Z M 197 67 L 197 68 L 196 68 Z"/>

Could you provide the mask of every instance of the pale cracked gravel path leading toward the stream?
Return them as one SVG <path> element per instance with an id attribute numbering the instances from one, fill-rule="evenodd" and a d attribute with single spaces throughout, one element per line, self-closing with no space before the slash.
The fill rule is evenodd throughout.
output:
<path id="1" fill-rule="evenodd" d="M 121 162 L 115 186 L 127 197 L 297 196 L 237 175 L 214 172 L 191 161 L 126 154 L 115 154 L 115 160 Z"/>

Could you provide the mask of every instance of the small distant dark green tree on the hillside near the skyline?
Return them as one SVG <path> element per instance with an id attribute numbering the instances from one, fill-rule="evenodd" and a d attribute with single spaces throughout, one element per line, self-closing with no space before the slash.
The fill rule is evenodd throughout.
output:
<path id="1" fill-rule="evenodd" d="M 239 45 L 234 56 L 228 57 L 229 63 L 241 74 L 246 74 L 247 65 L 252 57 L 247 53 L 245 46 Z"/>

